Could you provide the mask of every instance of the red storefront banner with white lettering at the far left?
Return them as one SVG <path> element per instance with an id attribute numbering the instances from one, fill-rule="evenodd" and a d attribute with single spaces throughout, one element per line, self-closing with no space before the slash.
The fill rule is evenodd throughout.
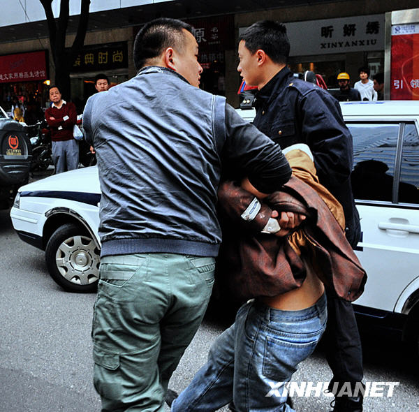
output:
<path id="1" fill-rule="evenodd" d="M 47 78 L 46 51 L 0 56 L 0 83 L 33 82 Z"/>

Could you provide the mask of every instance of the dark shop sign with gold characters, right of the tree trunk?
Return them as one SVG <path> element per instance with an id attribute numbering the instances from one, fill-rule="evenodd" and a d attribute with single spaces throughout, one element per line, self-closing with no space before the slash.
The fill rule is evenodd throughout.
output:
<path id="1" fill-rule="evenodd" d="M 109 43 L 83 47 L 76 57 L 71 73 L 108 71 L 128 67 L 128 47 L 124 43 Z"/>

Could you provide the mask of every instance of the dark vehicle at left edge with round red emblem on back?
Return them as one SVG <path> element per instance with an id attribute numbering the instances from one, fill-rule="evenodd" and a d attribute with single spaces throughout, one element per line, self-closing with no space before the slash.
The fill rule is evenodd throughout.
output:
<path id="1" fill-rule="evenodd" d="M 0 108 L 0 209 L 8 209 L 17 189 L 26 184 L 31 166 L 31 143 L 24 126 Z"/>

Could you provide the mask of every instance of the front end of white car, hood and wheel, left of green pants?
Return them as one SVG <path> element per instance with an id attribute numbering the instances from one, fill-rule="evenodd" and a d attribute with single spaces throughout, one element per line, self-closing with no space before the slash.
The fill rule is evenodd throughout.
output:
<path id="1" fill-rule="evenodd" d="M 93 166 L 22 186 L 10 210 L 19 237 L 45 250 L 52 279 L 71 292 L 96 290 L 100 201 Z"/>

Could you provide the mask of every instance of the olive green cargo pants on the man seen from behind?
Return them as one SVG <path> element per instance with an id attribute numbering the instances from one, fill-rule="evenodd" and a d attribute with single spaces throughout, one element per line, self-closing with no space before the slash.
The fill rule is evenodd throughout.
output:
<path id="1" fill-rule="evenodd" d="M 168 382 L 205 314 L 214 258 L 105 256 L 92 326 L 102 412 L 162 412 Z"/>

